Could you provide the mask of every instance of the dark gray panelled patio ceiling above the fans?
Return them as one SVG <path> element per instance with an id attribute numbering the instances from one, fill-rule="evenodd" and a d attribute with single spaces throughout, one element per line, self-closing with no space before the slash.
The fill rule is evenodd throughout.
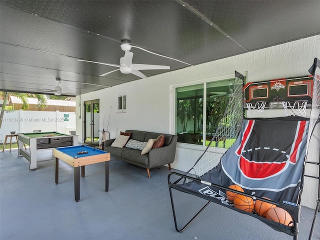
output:
<path id="1" fill-rule="evenodd" d="M 121 40 L 146 76 L 320 33 L 319 0 L 0 0 L 0 90 L 66 95 L 140 79 L 113 66 Z"/>

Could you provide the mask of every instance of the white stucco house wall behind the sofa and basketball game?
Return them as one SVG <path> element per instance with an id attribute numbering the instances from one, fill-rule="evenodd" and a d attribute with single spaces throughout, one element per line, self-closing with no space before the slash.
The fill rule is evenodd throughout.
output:
<path id="1" fill-rule="evenodd" d="M 100 99 L 100 129 L 103 127 L 106 129 L 108 125 L 107 130 L 110 132 L 110 138 L 114 138 L 120 130 L 126 129 L 173 133 L 172 93 L 170 92 L 172 85 L 218 76 L 230 76 L 234 75 L 234 70 L 246 74 L 247 81 L 253 82 L 302 76 L 309 74 L 308 69 L 312 65 L 314 57 L 320 58 L 320 35 L 82 94 L 81 103 L 85 100 Z M 122 93 L 126 94 L 126 113 L 116 113 L 116 96 Z M 79 96 L 76 97 L 76 100 L 78 106 Z M 81 108 L 81 114 L 83 114 L 82 112 Z M 276 110 L 267 110 L 264 114 L 260 116 L 279 116 Z M 82 129 L 83 118 L 79 119 L 78 107 L 76 115 L 77 134 L 79 139 L 82 139 L 80 129 Z M 319 149 L 316 144 L 312 147 Z M 183 171 L 188 170 L 202 150 L 203 148 L 199 146 L 178 143 L 176 157 L 171 166 Z M 318 159 L 315 160 L 318 161 Z M 317 170 L 314 172 L 314 167 L 312 169 L 313 174 L 318 174 Z M 302 194 L 303 205 L 315 208 L 317 189 L 315 179 L 305 180 Z"/>

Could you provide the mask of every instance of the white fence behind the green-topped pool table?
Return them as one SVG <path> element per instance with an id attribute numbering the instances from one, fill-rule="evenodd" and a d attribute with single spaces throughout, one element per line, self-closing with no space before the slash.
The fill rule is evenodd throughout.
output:
<path id="1" fill-rule="evenodd" d="M 23 133 L 35 129 L 69 134 L 69 131 L 75 131 L 75 112 L 23 110 L 4 112 L 0 128 L 3 137 L 10 134 L 10 131 Z M 13 141 L 15 142 L 15 137 L 12 138 Z"/>

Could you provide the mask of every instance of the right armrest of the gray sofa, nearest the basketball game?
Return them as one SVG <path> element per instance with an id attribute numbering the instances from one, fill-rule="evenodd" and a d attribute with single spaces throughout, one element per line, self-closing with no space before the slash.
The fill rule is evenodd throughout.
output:
<path id="1" fill-rule="evenodd" d="M 152 148 L 149 151 L 148 167 L 157 167 L 174 161 L 177 136 L 173 136 L 171 142 L 162 147 Z"/>

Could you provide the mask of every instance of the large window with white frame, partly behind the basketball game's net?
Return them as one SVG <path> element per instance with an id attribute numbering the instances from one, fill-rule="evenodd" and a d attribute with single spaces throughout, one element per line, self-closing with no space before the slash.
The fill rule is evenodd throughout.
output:
<path id="1" fill-rule="evenodd" d="M 178 142 L 207 145 L 223 116 L 233 78 L 175 89 L 175 133 Z M 220 143 L 216 143 L 220 146 Z M 223 147 L 223 144 L 221 144 Z"/>

